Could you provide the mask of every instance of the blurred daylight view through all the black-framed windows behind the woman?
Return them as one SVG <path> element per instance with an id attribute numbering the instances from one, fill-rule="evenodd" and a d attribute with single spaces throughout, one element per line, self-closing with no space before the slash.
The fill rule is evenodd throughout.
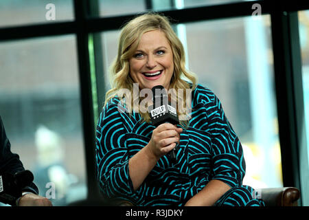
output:
<path id="1" fill-rule="evenodd" d="M 76 19 L 74 2 L 1 0 L 0 30 L 73 22 Z M 92 8 L 95 13 L 89 17 L 108 19 L 148 10 L 224 6 L 241 1 L 95 2 Z M 48 3 L 55 5 L 55 20 L 45 17 Z M 217 10 L 220 12 L 220 8 Z M 278 111 L 282 107 L 277 106 L 276 100 L 271 25 L 270 14 L 201 19 L 173 25 L 185 46 L 187 68 L 198 76 L 198 83 L 218 96 L 242 142 L 247 164 L 244 184 L 253 188 L 284 186 L 278 126 Z M 106 26 L 99 26 L 99 31 L 88 35 L 94 124 L 104 94 L 110 88 L 108 67 L 117 53 L 119 37 L 117 25 L 111 22 Z M 298 12 L 298 27 L 306 134 L 302 148 L 299 147 L 299 172 L 302 203 L 308 206 L 309 10 Z M 40 195 L 47 195 L 48 183 L 55 184 L 56 197 L 51 199 L 55 206 L 87 198 L 90 187 L 86 154 L 87 148 L 92 146 L 85 143 L 84 130 L 94 133 L 95 128 L 83 124 L 80 87 L 84 82 L 80 81 L 80 75 L 84 72 L 80 69 L 78 53 L 75 33 L 0 41 L 0 115 L 12 151 L 19 154 L 26 169 L 33 171 Z"/>

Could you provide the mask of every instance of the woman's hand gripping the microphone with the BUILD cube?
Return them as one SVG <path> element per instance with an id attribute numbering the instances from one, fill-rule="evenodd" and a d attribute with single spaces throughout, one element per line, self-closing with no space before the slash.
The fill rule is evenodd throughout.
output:
<path id="1" fill-rule="evenodd" d="M 180 133 L 182 131 L 183 129 L 177 128 L 170 123 L 160 124 L 152 131 L 151 140 L 147 145 L 150 152 L 159 159 L 163 155 L 172 151 L 176 146 L 176 143 L 179 143 Z"/>

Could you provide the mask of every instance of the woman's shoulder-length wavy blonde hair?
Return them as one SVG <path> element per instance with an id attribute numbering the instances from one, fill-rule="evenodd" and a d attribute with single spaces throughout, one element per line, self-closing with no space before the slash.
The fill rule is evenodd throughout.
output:
<path id="1" fill-rule="evenodd" d="M 108 100 L 111 100 L 111 98 L 117 96 L 118 91 L 121 89 L 128 89 L 131 91 L 131 94 L 133 94 L 133 83 L 135 82 L 129 74 L 129 59 L 137 50 L 141 36 L 152 30 L 161 30 L 164 32 L 170 46 L 172 47 L 174 73 L 170 81 L 169 89 L 175 89 L 176 91 L 178 91 L 178 89 L 183 89 L 182 97 L 176 94 L 176 102 L 181 102 L 181 104 L 178 104 L 178 107 L 186 108 L 186 103 L 183 97 L 187 97 L 187 89 L 195 89 L 196 75 L 185 69 L 185 50 L 183 49 L 183 45 L 176 36 L 174 30 L 172 30 L 170 21 L 167 17 L 155 12 L 148 12 L 147 14 L 139 15 L 126 23 L 126 25 L 122 28 L 122 32 L 119 37 L 117 56 L 110 68 L 111 89 L 106 92 L 104 105 L 107 104 Z M 183 78 L 190 80 L 192 85 L 190 85 L 190 83 Z M 126 102 L 130 102 L 130 106 L 133 106 L 133 97 L 131 97 L 130 100 L 126 100 Z M 141 98 L 139 98 L 139 103 L 140 102 Z M 186 112 L 185 109 L 179 108 L 177 108 L 176 111 L 179 115 Z M 150 115 L 148 112 L 139 113 L 145 122 L 150 122 Z M 183 124 L 183 126 L 187 126 L 187 122 L 185 121 L 182 121 L 181 124 Z"/>

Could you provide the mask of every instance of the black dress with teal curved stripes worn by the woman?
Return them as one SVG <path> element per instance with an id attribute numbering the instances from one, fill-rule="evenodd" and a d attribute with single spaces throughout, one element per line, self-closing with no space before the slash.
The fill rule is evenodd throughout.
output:
<path id="1" fill-rule="evenodd" d="M 199 84 L 192 91 L 192 118 L 180 134 L 177 162 L 172 164 L 168 155 L 161 157 L 137 190 L 128 161 L 148 144 L 155 126 L 141 123 L 139 113 L 130 115 L 118 104 L 117 97 L 109 100 L 96 131 L 96 171 L 104 197 L 136 206 L 183 206 L 211 179 L 218 179 L 231 189 L 215 206 L 264 206 L 262 199 L 253 199 L 258 198 L 253 188 L 242 186 L 242 146 L 212 91 Z"/>

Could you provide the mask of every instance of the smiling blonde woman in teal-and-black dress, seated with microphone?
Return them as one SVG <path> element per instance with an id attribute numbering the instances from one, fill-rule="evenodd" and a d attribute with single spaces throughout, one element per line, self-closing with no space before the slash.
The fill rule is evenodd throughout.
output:
<path id="1" fill-rule="evenodd" d="M 264 206 L 261 199 L 253 199 L 251 187 L 242 186 L 245 163 L 240 141 L 218 98 L 185 70 L 184 54 L 168 19 L 159 14 L 136 17 L 122 29 L 111 66 L 112 89 L 106 93 L 97 126 L 102 194 L 136 206 Z M 192 108 L 188 120 L 153 126 L 148 112 L 129 108 L 145 96 L 119 92 L 134 94 L 134 85 L 139 91 L 156 85 L 191 89 L 190 106 L 183 98 L 187 94 L 176 94 L 180 118 Z M 168 153 L 176 144 L 173 164 Z"/>

